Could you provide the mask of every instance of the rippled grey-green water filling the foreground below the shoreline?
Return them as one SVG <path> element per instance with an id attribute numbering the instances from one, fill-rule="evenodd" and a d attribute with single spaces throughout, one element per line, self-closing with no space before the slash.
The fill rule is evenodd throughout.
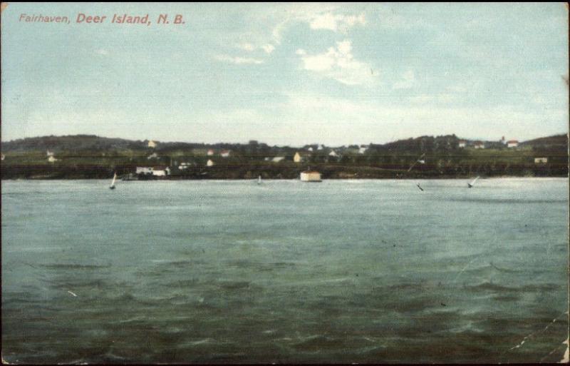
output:
<path id="1" fill-rule="evenodd" d="M 416 183 L 4 181 L 4 360 L 560 360 L 568 180 Z"/>

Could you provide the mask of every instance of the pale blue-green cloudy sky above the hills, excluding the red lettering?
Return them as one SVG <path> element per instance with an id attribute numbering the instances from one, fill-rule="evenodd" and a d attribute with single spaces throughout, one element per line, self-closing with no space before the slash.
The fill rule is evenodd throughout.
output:
<path id="1" fill-rule="evenodd" d="M 563 3 L 9 3 L 1 141 L 524 141 L 568 132 L 568 72 Z"/>

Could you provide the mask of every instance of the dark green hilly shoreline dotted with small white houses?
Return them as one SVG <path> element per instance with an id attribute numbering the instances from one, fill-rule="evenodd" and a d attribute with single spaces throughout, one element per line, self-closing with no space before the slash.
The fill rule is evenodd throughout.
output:
<path id="1" fill-rule="evenodd" d="M 2 177 L 123 180 L 205 178 L 326 178 L 561 176 L 567 173 L 567 136 L 519 142 L 420 136 L 384 144 L 299 148 L 248 143 L 129 141 L 91 135 L 44 136 L 2 143 Z M 43 153 L 41 149 L 43 148 Z M 43 158 L 41 157 L 43 154 Z M 318 177 L 320 178 L 320 177 Z"/>

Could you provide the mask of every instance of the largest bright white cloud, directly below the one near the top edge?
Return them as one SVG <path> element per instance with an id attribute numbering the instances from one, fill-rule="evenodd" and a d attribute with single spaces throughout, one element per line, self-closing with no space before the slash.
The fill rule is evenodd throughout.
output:
<path id="1" fill-rule="evenodd" d="M 374 80 L 374 73 L 368 64 L 354 59 L 351 41 L 336 43 L 324 54 L 308 55 L 304 50 L 297 50 L 305 70 L 320 73 L 347 85 L 358 85 Z"/>

